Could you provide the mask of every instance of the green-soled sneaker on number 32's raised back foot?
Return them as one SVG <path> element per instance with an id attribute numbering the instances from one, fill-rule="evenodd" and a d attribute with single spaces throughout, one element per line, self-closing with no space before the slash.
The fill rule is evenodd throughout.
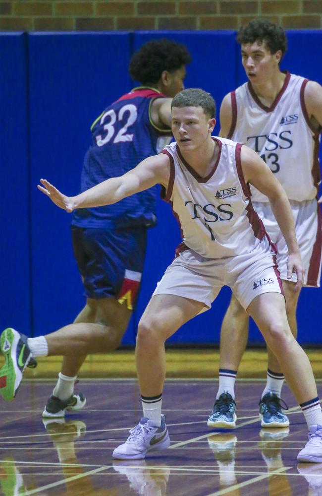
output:
<path id="1" fill-rule="evenodd" d="M 5 363 L 0 369 L 0 394 L 6 401 L 15 397 L 23 372 L 30 361 L 34 363 L 27 336 L 8 327 L 0 336 L 0 350 Z"/>

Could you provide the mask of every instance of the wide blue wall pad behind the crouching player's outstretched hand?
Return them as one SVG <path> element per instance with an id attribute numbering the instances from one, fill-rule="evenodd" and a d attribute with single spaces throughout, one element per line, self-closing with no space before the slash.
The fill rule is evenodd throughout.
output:
<path id="1" fill-rule="evenodd" d="M 66 194 L 80 188 L 90 126 L 131 85 L 129 33 L 29 35 L 32 287 L 34 334 L 72 322 L 83 288 L 72 254 L 71 217 L 37 189 L 46 178 Z M 124 342 L 133 343 L 133 324 Z"/>

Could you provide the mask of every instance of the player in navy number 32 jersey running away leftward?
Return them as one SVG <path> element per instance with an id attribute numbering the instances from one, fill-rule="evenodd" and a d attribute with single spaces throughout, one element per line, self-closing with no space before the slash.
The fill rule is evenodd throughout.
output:
<path id="1" fill-rule="evenodd" d="M 185 65 L 190 61 L 184 45 L 167 39 L 145 43 L 134 53 L 129 72 L 142 86 L 121 96 L 92 124 L 81 191 L 122 176 L 171 140 L 170 105 L 172 97 L 184 88 Z M 81 393 L 74 394 L 74 382 L 86 354 L 110 352 L 119 346 L 138 294 L 146 230 L 156 221 L 155 197 L 156 188 L 151 188 L 116 205 L 75 212 L 73 248 L 86 305 L 73 324 L 54 334 L 57 355 L 64 357 L 44 417 L 63 417 L 66 410 L 83 408 L 86 399 Z M 76 335 L 83 342 L 80 347 L 70 341 Z M 14 330 L 3 334 L 6 364 L 0 372 L 0 393 L 4 399 L 14 397 L 29 355 L 46 355 L 48 350 L 44 336 L 32 338 L 30 347 L 24 337 L 21 340 L 18 336 Z M 19 355 L 19 360 L 12 368 L 10 357 L 14 354 Z"/>

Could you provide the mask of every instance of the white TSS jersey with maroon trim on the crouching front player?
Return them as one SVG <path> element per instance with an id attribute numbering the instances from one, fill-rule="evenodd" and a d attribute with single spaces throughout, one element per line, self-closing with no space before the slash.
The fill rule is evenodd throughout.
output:
<path id="1" fill-rule="evenodd" d="M 249 253 L 266 233 L 249 199 L 240 162 L 242 145 L 213 139 L 219 152 L 206 178 L 185 161 L 176 143 L 162 150 L 171 170 L 164 199 L 172 204 L 186 247 L 206 258 L 225 258 Z"/>

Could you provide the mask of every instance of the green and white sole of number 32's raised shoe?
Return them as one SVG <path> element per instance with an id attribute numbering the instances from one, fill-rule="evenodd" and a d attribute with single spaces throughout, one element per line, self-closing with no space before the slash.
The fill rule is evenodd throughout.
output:
<path id="1" fill-rule="evenodd" d="M 5 329 L 1 333 L 1 337 L 0 337 L 0 350 L 1 353 L 4 355 L 4 360 L 5 360 L 5 364 L 0 369 L 0 382 L 2 379 L 3 383 L 5 383 L 0 388 L 0 394 L 5 401 L 12 401 L 14 399 L 22 380 L 22 372 L 27 367 L 28 361 L 31 358 L 31 354 L 30 354 L 25 362 L 23 371 L 21 372 L 15 360 L 17 344 L 19 342 L 19 339 L 20 339 L 19 333 L 16 331 L 14 332 L 14 330 L 11 329 L 11 327 Z M 9 347 L 7 348 L 8 343 L 9 343 Z M 3 379 L 3 377 L 5 379 Z"/>

